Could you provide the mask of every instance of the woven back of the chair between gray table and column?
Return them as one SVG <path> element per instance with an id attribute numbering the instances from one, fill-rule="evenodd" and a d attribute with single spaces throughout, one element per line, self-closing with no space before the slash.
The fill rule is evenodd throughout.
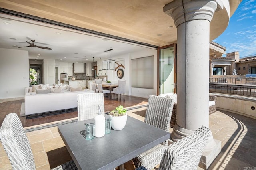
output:
<path id="1" fill-rule="evenodd" d="M 172 99 L 150 95 L 144 122 L 169 132 L 173 105 Z M 163 144 L 168 146 L 168 142 Z"/>

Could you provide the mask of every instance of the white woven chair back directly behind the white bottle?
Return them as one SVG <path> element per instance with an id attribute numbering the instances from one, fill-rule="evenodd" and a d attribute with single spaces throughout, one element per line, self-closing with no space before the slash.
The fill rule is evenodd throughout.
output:
<path id="1" fill-rule="evenodd" d="M 94 118 L 98 112 L 98 106 L 102 115 L 105 115 L 103 93 L 82 93 L 77 95 L 78 121 Z"/>

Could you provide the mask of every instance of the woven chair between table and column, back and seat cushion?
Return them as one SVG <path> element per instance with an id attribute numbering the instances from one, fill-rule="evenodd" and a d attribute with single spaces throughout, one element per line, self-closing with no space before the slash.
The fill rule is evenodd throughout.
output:
<path id="1" fill-rule="evenodd" d="M 174 101 L 172 99 L 150 95 L 144 122 L 169 132 L 173 105 Z M 135 167 L 154 168 L 160 164 L 167 146 L 168 140 L 136 156 L 133 159 Z"/>

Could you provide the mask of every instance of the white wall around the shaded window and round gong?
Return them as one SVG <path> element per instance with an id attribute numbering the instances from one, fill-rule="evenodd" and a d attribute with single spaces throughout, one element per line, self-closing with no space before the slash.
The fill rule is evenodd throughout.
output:
<path id="1" fill-rule="evenodd" d="M 143 88 L 134 88 L 131 87 L 131 59 L 141 58 L 141 57 L 148 57 L 154 56 L 154 89 L 143 89 Z M 124 77 L 119 79 L 116 75 L 116 71 L 108 70 L 108 80 L 111 82 L 117 83 L 118 80 L 126 80 L 126 93 L 125 95 L 132 95 L 136 97 L 144 97 L 148 98 L 149 95 L 156 95 L 157 94 L 157 50 L 156 49 L 145 49 L 142 51 L 128 53 L 125 55 L 118 56 L 115 59 L 117 63 L 122 63 L 124 65 Z M 117 65 L 116 65 L 117 66 Z"/>

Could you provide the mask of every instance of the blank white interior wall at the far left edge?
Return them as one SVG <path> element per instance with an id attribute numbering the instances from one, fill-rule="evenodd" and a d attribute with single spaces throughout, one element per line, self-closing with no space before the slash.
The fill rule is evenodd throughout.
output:
<path id="1" fill-rule="evenodd" d="M 29 86 L 28 51 L 0 48 L 0 99 L 24 97 Z"/>

